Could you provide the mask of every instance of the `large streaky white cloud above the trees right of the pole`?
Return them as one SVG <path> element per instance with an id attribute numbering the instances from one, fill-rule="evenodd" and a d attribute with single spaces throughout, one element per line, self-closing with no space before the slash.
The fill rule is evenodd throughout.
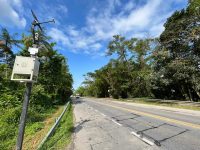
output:
<path id="1" fill-rule="evenodd" d="M 128 38 L 159 36 L 164 30 L 164 22 L 174 11 L 171 6 L 175 3 L 178 2 L 146 0 L 146 3 L 136 4 L 129 0 L 124 4 L 120 0 L 107 0 L 101 11 L 98 6 L 91 8 L 84 27 L 68 26 L 65 31 L 52 28 L 50 33 L 58 34 L 53 38 L 73 52 L 102 53 L 105 50 L 103 44 L 116 34 Z"/>

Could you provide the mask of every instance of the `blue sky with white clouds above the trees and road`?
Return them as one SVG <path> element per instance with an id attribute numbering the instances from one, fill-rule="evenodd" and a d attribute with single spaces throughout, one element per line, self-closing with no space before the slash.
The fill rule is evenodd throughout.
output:
<path id="1" fill-rule="evenodd" d="M 108 63 L 113 35 L 158 37 L 167 18 L 186 6 L 187 0 L 0 0 L 0 27 L 29 34 L 31 9 L 41 21 L 54 18 L 43 27 L 67 58 L 76 89 L 84 74 Z"/>

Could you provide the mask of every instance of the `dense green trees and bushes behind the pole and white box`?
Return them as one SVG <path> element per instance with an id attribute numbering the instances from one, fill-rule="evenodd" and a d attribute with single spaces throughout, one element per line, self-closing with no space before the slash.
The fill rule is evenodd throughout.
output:
<path id="1" fill-rule="evenodd" d="M 0 149 L 12 149 L 16 142 L 17 129 L 23 102 L 25 83 L 10 80 L 15 55 L 28 56 L 32 38 L 22 36 L 14 40 L 6 29 L 2 29 L 0 39 Z M 43 121 L 55 110 L 57 104 L 64 104 L 72 94 L 72 75 L 69 73 L 66 58 L 54 50 L 55 43 L 47 43 L 42 36 L 40 72 L 38 82 L 33 84 L 28 111 L 28 127 Z M 18 54 L 12 49 L 20 48 Z M 5 57 L 6 56 L 6 57 Z M 34 133 L 33 133 L 34 134 Z"/>

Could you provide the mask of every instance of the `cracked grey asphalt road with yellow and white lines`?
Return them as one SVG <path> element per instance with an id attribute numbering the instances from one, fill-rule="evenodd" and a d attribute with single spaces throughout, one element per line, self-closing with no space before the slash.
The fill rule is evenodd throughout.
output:
<path id="1" fill-rule="evenodd" d="M 200 112 L 102 99 L 74 100 L 75 150 L 200 150 Z"/>

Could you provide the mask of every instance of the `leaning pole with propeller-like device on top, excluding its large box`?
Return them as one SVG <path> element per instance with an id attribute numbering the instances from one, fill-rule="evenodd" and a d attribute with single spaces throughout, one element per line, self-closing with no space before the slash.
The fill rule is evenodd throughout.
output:
<path id="1" fill-rule="evenodd" d="M 31 10 L 31 13 L 34 17 L 34 21 L 32 22 L 32 27 L 31 27 L 32 36 L 33 36 L 33 47 L 29 48 L 29 52 L 30 52 L 31 58 L 36 58 L 36 54 L 38 53 L 38 46 L 39 46 L 39 33 L 35 32 L 35 27 L 38 27 L 39 30 L 42 32 L 42 28 L 40 24 L 49 23 L 49 22 L 55 23 L 55 21 L 53 19 L 47 22 L 39 22 L 36 15 L 34 14 L 32 10 Z M 39 66 L 38 66 L 38 69 L 39 69 Z M 14 79 L 14 75 L 12 75 L 12 79 Z M 19 133 L 18 133 L 18 138 L 17 138 L 16 150 L 22 150 L 24 131 L 25 131 L 25 126 L 26 126 L 26 118 L 27 118 L 27 112 L 28 112 L 28 104 L 30 100 L 32 85 L 33 85 L 32 82 L 26 82 L 26 90 L 24 93 L 24 101 L 23 101 L 22 113 L 20 117 Z"/>

